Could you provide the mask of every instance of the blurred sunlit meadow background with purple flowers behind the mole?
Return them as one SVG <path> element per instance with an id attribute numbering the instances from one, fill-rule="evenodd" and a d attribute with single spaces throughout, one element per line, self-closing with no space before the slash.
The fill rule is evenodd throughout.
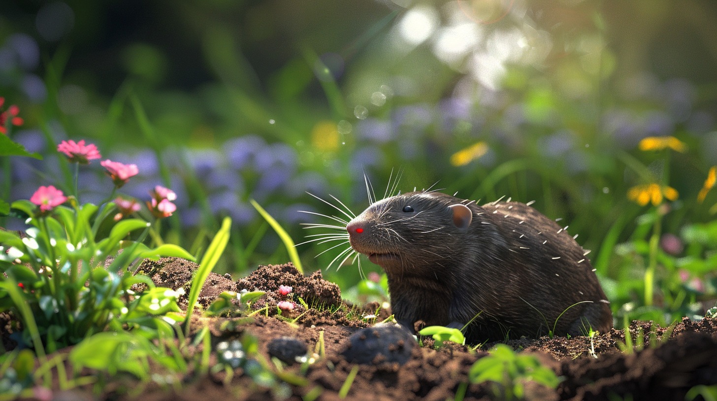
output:
<path id="1" fill-rule="evenodd" d="M 400 172 L 403 191 L 536 200 L 606 282 L 649 207 L 630 188 L 678 191 L 665 233 L 714 217 L 714 191 L 696 200 L 717 164 L 713 1 L 10 1 L 0 15 L 0 96 L 24 117 L 11 137 L 44 155 L 11 159 L 3 198 L 69 185 L 56 144 L 85 139 L 138 165 L 123 193 L 178 193 L 168 241 L 189 248 L 232 216 L 220 271 L 288 260 L 250 198 L 301 242 L 321 219 L 298 211 L 338 213 L 307 192 L 359 213 L 364 173 L 379 198 Z M 650 136 L 686 150 L 637 149 Z M 110 192 L 102 170 L 80 170 L 82 201 Z M 299 246 L 309 270 L 329 246 Z"/>

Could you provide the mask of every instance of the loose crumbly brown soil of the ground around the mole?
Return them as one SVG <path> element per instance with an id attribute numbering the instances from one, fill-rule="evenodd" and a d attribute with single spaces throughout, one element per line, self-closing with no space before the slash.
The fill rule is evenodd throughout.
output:
<path id="1" fill-rule="evenodd" d="M 190 261 L 166 258 L 145 261 L 141 270 L 157 286 L 182 287 L 189 294 L 196 267 Z M 278 291 L 280 285 L 292 286 L 293 291 L 284 296 Z M 55 392 L 51 399 L 331 401 L 341 399 L 342 386 L 348 385 L 351 376 L 353 382 L 344 400 L 443 401 L 460 399 L 464 392 L 463 400 L 501 399 L 500 387 L 494 383 L 465 385 L 470 367 L 487 356 L 495 342 L 480 347 L 450 343 L 436 349 L 433 339 L 424 337 L 421 345 L 416 344 L 402 329 L 375 326 L 389 317 L 389 311 L 380 309 L 379 304 L 346 304 L 338 286 L 323 280 L 320 272 L 303 276 L 291 264 L 260 266 L 238 281 L 212 273 L 202 287 L 199 302 L 206 307 L 222 291 L 244 289 L 266 291 L 252 304 L 257 313 L 251 317 L 247 317 L 251 311 L 244 311 L 241 316 L 207 318 L 198 311 L 191 317 L 192 332 L 209 327 L 212 365 L 218 360 L 218 344 L 251 334 L 259 342 L 258 358 L 271 361 L 270 352 L 278 358 L 269 363 L 275 375 L 286 379 L 281 385 L 263 387 L 239 367 L 230 377 L 225 371 L 201 377 L 190 371 L 179 378 L 181 386 L 176 388 L 116 377 L 100 395 L 92 395 L 87 387 Z M 180 301 L 186 306 L 186 296 Z M 293 301 L 295 308 L 279 314 L 279 301 Z M 0 329 L 6 349 L 14 347 L 7 337 L 14 329 L 11 316 L 0 314 Z M 322 339 L 325 357 L 320 358 L 313 354 L 320 351 L 316 345 Z M 505 344 L 535 355 L 561 377 L 556 389 L 526 383 L 528 400 L 685 400 L 690 388 L 717 384 L 717 320 L 693 322 L 684 318 L 667 328 L 652 322 L 632 322 L 630 339 L 635 345 L 632 349 L 625 346 L 625 331 L 612 329 L 592 339 L 523 338 Z M 279 361 L 292 362 L 294 354 L 304 350 L 308 350 L 308 357 L 315 357 L 313 364 Z M 295 382 L 297 378 L 305 382 Z"/>

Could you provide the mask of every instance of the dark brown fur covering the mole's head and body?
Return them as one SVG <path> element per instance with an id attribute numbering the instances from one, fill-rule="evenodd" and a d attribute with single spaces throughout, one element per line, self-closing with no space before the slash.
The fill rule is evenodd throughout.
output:
<path id="1" fill-rule="evenodd" d="M 458 209 L 470 224 L 454 220 Z M 386 271 L 391 309 L 410 329 L 418 320 L 462 327 L 475 318 L 466 337 L 480 342 L 612 328 L 586 252 L 524 203 L 405 193 L 369 206 L 347 230 L 351 246 Z"/>

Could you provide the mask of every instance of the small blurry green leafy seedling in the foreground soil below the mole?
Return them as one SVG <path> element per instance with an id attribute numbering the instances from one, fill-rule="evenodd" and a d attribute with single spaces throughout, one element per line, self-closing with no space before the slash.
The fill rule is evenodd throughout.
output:
<path id="1" fill-rule="evenodd" d="M 525 383 L 536 382 L 555 388 L 560 380 L 544 367 L 534 355 L 519 354 L 505 344 L 497 344 L 490 354 L 478 359 L 468 372 L 472 383 L 493 382 L 495 396 L 500 400 L 522 400 Z"/>

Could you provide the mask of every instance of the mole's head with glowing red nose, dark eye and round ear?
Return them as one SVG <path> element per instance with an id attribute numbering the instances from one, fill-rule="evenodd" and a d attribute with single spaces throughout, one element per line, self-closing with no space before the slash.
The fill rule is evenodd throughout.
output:
<path id="1" fill-rule="evenodd" d="M 473 211 L 450 195 L 410 192 L 379 200 L 346 226 L 351 247 L 388 270 L 450 257 Z"/>

